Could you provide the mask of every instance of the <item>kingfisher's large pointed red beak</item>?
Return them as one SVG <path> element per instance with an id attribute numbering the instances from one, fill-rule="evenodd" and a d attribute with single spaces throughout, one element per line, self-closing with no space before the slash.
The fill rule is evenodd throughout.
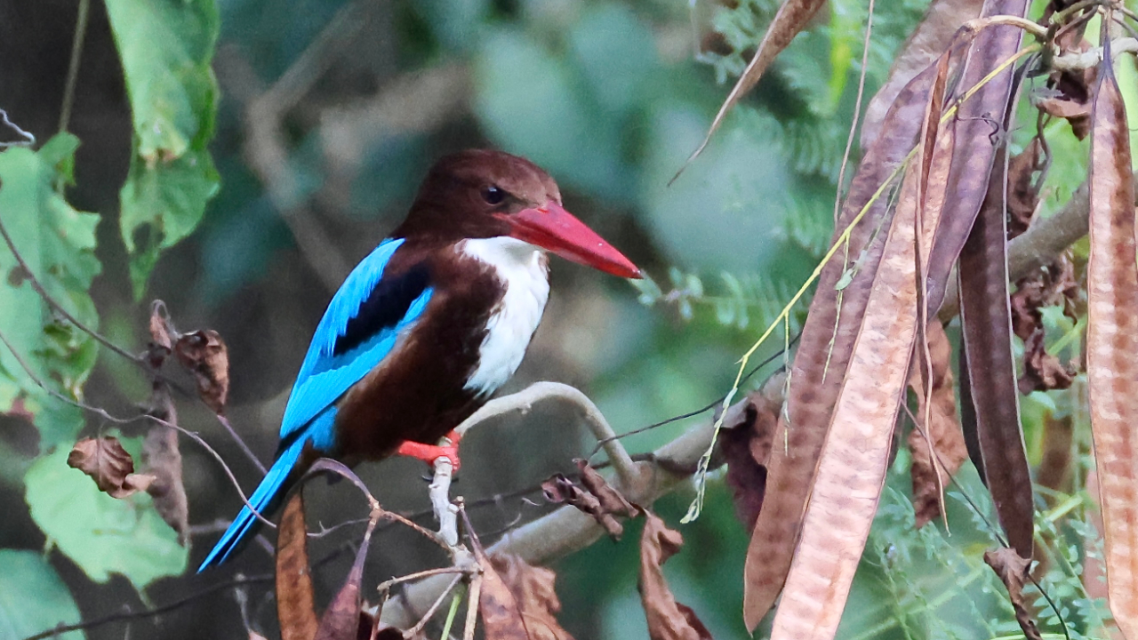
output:
<path id="1" fill-rule="evenodd" d="M 510 223 L 512 238 L 537 245 L 566 260 L 605 273 L 621 278 L 644 277 L 641 270 L 612 248 L 612 245 L 605 243 L 595 231 L 553 200 L 504 218 Z"/>

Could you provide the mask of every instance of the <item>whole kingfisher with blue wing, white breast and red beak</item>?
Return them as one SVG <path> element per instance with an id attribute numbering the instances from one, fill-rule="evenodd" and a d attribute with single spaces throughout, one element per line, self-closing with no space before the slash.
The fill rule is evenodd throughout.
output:
<path id="1" fill-rule="evenodd" d="M 198 572 L 224 563 L 321 457 L 348 466 L 446 457 L 456 468 L 453 429 L 513 376 L 537 330 L 546 252 L 643 277 L 566 211 L 536 164 L 490 149 L 438 159 L 403 223 L 332 296 L 289 394 L 275 461 Z M 438 446 L 444 436 L 451 445 Z"/>

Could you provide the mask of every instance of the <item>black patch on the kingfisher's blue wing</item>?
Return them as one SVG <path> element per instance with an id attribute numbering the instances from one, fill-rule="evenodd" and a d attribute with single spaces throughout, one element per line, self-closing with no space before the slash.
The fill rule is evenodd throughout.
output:
<path id="1" fill-rule="evenodd" d="M 384 276 L 348 320 L 344 333 L 336 338 L 332 356 L 347 353 L 379 331 L 396 326 L 407 314 L 411 303 L 429 286 L 430 270 L 426 263 L 419 263 L 398 276 Z"/>

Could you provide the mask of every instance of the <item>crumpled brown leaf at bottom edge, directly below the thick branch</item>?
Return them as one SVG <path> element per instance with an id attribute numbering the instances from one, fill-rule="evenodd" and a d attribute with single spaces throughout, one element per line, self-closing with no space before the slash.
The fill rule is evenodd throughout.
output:
<path id="1" fill-rule="evenodd" d="M 495 553 L 489 560 L 513 594 L 529 640 L 572 640 L 572 635 L 558 623 L 561 600 L 553 590 L 555 573 L 528 565 L 512 553 Z"/>

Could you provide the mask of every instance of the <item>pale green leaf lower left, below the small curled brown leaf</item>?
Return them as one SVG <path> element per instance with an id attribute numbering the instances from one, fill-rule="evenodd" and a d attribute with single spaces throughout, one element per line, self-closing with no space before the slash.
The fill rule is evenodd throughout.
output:
<path id="1" fill-rule="evenodd" d="M 131 441 L 135 442 L 131 442 Z M 138 450 L 140 438 L 122 438 Z M 112 573 L 124 575 L 135 589 L 185 571 L 189 551 L 162 520 L 150 497 L 137 493 L 115 500 L 91 478 L 67 466 L 65 449 L 41 457 L 24 477 L 24 499 L 32 519 L 60 551 L 96 582 Z"/>

